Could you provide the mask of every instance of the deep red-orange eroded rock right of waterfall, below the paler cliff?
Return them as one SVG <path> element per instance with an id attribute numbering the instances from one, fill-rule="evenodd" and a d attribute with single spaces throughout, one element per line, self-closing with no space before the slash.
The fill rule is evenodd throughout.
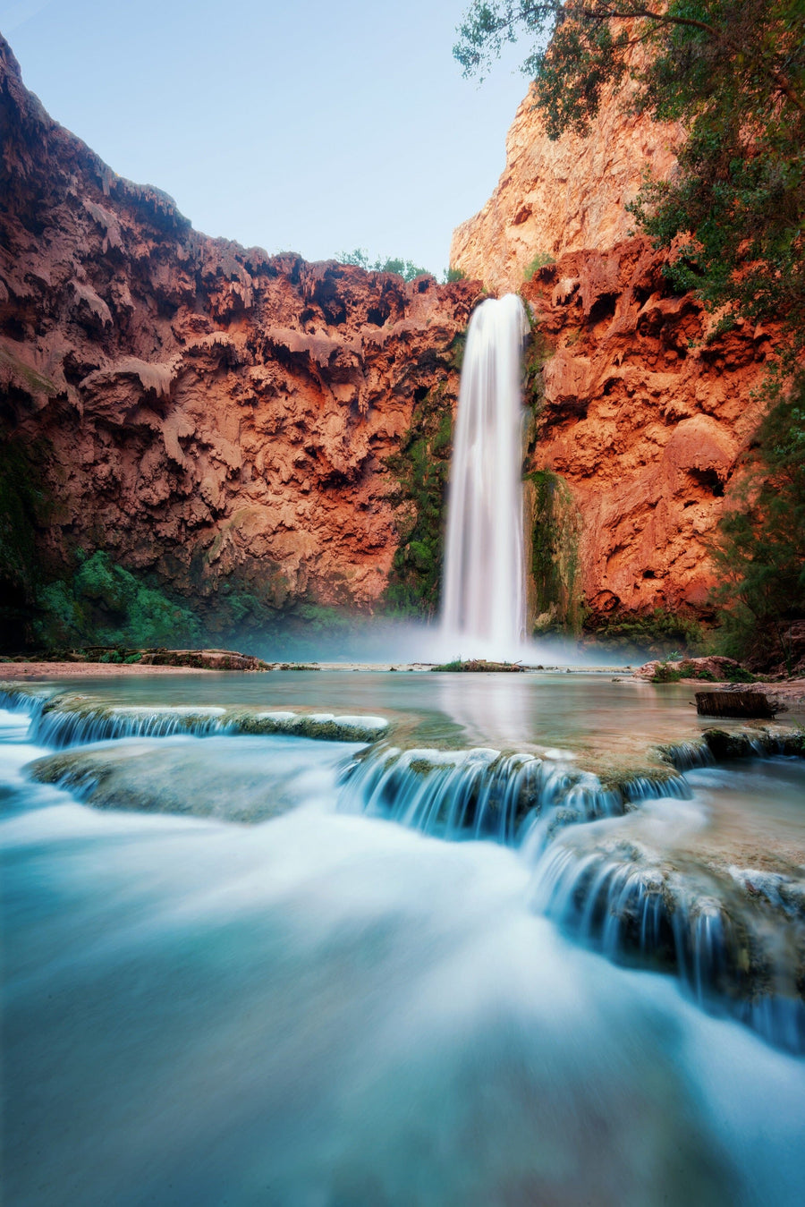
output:
<path id="1" fill-rule="evenodd" d="M 642 238 L 573 252 L 524 286 L 544 339 L 533 466 L 581 512 L 579 587 L 593 619 L 707 610 L 707 544 L 763 414 L 772 333 L 675 296 Z"/>

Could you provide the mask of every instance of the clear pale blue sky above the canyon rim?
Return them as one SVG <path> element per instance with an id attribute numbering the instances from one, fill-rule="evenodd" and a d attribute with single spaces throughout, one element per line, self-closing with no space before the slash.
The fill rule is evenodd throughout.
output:
<path id="1" fill-rule="evenodd" d="M 197 229 L 441 273 L 527 87 L 525 48 L 462 78 L 468 2 L 0 0 L 0 31 L 51 116 Z"/>

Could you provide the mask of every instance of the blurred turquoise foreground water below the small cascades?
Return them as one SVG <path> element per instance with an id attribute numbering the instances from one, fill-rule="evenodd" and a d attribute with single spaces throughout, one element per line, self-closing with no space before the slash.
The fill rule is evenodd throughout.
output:
<path id="1" fill-rule="evenodd" d="M 232 739 L 171 741 L 227 791 Z M 0 713 L 10 1203 L 800 1201 L 800 1061 L 564 939 L 523 852 L 345 811 L 354 747 L 299 781 L 301 741 L 263 739 L 297 807 L 238 827 L 31 783 Z"/>

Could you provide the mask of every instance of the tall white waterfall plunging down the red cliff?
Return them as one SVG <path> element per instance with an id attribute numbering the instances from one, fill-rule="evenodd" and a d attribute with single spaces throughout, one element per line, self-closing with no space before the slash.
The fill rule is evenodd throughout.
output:
<path id="1" fill-rule="evenodd" d="M 515 293 L 472 316 L 450 468 L 442 626 L 455 653 L 508 657 L 525 634 L 523 402 L 527 332 Z"/>

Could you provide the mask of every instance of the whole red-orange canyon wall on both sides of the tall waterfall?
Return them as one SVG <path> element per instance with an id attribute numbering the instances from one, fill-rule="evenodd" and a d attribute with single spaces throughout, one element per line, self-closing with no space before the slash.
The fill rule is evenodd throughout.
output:
<path id="1" fill-rule="evenodd" d="M 255 601 L 371 612 L 396 581 L 432 608 L 483 280 L 519 290 L 535 322 L 539 623 L 707 614 L 707 543 L 774 332 L 711 338 L 629 237 L 624 204 L 647 165 L 672 170 L 677 128 L 611 98 L 585 141 L 552 144 L 524 103 L 495 196 L 456 232 L 453 263 L 478 279 L 437 285 L 197 233 L 54 123 L 2 42 L 0 122 L 0 425 L 45 501 L 46 577 L 103 549 L 229 620 Z M 524 281 L 537 253 L 554 263 Z"/>

